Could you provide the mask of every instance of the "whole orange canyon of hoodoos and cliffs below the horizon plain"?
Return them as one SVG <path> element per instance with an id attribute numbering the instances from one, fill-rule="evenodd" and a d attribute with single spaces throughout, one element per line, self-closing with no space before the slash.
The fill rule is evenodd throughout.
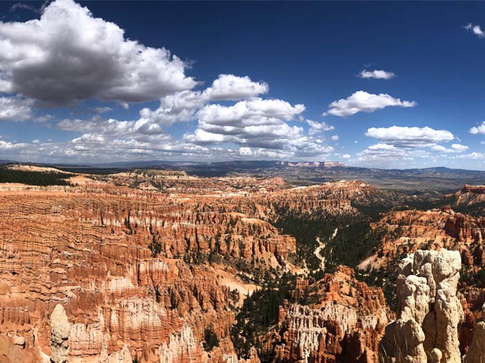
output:
<path id="1" fill-rule="evenodd" d="M 480 187 L 445 196 L 450 205 L 406 210 L 414 197 L 360 180 L 10 168 L 67 183 L 0 183 L 0 362 L 382 362 L 386 337 L 397 334 L 389 326 L 403 329 L 412 316 L 416 331 L 421 315 L 403 311 L 423 313 L 443 294 L 456 337 L 420 340 L 419 359 L 439 348 L 441 362 L 478 362 L 484 349 L 485 219 L 454 210 L 479 205 Z M 378 236 L 355 266 L 328 265 L 336 252 L 318 243 L 337 237 L 352 249 L 352 236 L 342 239 L 349 224 L 315 232 L 311 245 L 301 239 L 299 223 L 334 219 L 367 223 Z M 443 279 L 422 267 L 445 250 L 456 267 L 450 293 L 437 292 Z M 421 254 L 422 266 L 399 263 Z M 434 295 L 414 296 L 422 305 L 409 308 L 416 279 Z"/>

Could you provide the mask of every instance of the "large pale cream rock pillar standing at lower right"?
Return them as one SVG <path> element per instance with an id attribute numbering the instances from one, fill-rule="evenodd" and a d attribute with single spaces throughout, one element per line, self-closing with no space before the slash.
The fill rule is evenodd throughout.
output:
<path id="1" fill-rule="evenodd" d="M 380 344 L 385 362 L 460 363 L 458 324 L 464 312 L 457 297 L 458 251 L 416 251 L 399 265 L 400 313 Z"/>

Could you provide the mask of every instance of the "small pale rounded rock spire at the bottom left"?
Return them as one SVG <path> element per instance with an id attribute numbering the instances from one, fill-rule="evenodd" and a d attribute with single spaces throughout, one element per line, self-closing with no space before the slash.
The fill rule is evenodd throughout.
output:
<path id="1" fill-rule="evenodd" d="M 71 324 L 62 305 L 55 306 L 51 314 L 51 362 L 65 363 L 69 355 Z"/>

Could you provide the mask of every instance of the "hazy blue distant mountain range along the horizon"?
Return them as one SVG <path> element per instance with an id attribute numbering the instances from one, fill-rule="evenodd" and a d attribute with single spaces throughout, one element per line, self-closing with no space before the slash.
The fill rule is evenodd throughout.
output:
<path id="1" fill-rule="evenodd" d="M 0 164 L 12 162 L 0 160 Z M 36 165 L 48 165 L 39 164 Z M 279 160 L 238 160 L 222 162 L 182 162 L 167 160 L 94 163 L 89 165 L 50 165 L 85 173 L 110 173 L 126 169 L 184 170 L 194 176 L 250 175 L 261 178 L 281 177 L 290 183 L 308 185 L 329 180 L 359 179 L 388 189 L 408 192 L 436 190 L 455 192 L 464 184 L 485 185 L 485 171 L 430 167 L 425 169 L 376 169 L 349 167 L 340 162 L 301 162 Z"/>

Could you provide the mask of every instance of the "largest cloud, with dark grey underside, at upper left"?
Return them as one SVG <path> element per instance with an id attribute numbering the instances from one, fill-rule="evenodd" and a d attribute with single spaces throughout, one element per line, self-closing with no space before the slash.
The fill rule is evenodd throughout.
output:
<path id="1" fill-rule="evenodd" d="M 72 0 L 53 1 L 40 19 L 0 22 L 0 47 L 0 92 L 46 104 L 143 102 L 197 84 L 169 50 L 125 38 Z"/>

